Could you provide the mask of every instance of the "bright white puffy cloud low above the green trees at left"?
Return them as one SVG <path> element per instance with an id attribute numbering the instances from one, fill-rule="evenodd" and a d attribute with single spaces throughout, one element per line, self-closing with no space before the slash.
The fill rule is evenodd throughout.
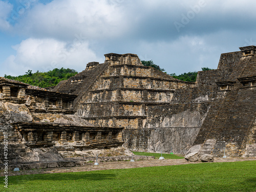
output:
<path id="1" fill-rule="evenodd" d="M 11 55 L 4 61 L 4 71 L 11 71 L 8 75 L 61 67 L 82 71 L 88 62 L 98 60 L 96 54 L 89 49 L 88 42 L 79 40 L 67 44 L 55 39 L 29 38 L 13 48 L 16 55 Z"/>

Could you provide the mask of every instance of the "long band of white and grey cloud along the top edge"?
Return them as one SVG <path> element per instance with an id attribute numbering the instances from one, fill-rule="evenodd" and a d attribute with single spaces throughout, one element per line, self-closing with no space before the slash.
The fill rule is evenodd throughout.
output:
<path id="1" fill-rule="evenodd" d="M 26 14 L 20 16 L 13 32 L 28 37 L 59 40 L 72 40 L 74 34 L 82 32 L 88 39 L 97 41 L 122 37 L 154 41 L 159 38 L 176 39 L 187 33 L 200 35 L 225 28 L 254 30 L 251 22 L 256 19 L 256 2 L 228 2 L 54 0 L 48 4 L 37 3 L 31 6 Z M 191 18 L 191 11 L 198 7 L 199 11 L 192 14 Z M 189 22 L 180 28 L 181 34 L 174 22 L 182 24 L 183 15 L 187 16 L 188 13 Z"/>

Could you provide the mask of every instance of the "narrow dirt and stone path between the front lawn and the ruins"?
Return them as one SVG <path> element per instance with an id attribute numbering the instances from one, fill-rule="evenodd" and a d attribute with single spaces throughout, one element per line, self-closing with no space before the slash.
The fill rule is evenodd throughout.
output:
<path id="1" fill-rule="evenodd" d="M 251 160 L 256 160 L 256 158 L 215 158 L 214 162 L 234 162 L 234 161 L 251 161 Z M 19 172 L 13 172 L 11 170 L 8 172 L 8 176 L 67 173 L 67 172 L 89 172 L 91 170 L 182 165 L 182 164 L 195 164 L 195 163 L 203 163 L 203 162 L 189 162 L 189 161 L 186 161 L 185 159 L 165 159 L 165 160 L 153 159 L 153 160 L 139 160 L 135 162 L 112 161 L 112 162 L 99 162 L 99 165 L 94 165 L 94 163 L 86 163 L 85 166 L 40 168 L 40 169 L 20 170 Z M 0 172 L 0 176 L 4 176 L 4 175 L 5 174 L 3 172 Z"/>

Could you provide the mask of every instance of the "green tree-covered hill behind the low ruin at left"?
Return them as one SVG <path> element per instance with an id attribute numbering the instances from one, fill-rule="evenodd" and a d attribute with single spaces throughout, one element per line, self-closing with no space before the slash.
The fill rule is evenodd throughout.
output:
<path id="1" fill-rule="evenodd" d="M 32 73 L 32 70 L 28 70 L 25 75 L 11 76 L 5 75 L 5 78 L 22 81 L 24 83 L 31 84 L 41 88 L 56 86 L 59 81 L 67 80 L 70 77 L 77 74 L 77 71 L 73 69 L 57 69 L 48 72 Z"/>

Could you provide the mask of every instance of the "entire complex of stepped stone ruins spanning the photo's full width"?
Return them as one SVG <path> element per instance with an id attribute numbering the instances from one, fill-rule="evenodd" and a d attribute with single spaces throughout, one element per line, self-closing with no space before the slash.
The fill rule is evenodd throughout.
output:
<path id="1" fill-rule="evenodd" d="M 256 47 L 240 49 L 222 54 L 218 69 L 198 72 L 196 82 L 115 53 L 48 90 L 1 78 L 0 139 L 8 132 L 24 149 L 14 153 L 47 149 L 56 159 L 70 148 L 122 144 L 143 152 L 186 154 L 200 145 L 200 154 L 256 156 Z"/>

